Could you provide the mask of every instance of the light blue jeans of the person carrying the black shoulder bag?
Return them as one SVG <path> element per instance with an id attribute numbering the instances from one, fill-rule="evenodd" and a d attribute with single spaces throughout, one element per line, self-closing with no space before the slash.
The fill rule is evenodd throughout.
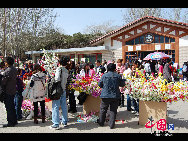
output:
<path id="1" fill-rule="evenodd" d="M 62 109 L 62 123 L 64 125 L 68 122 L 68 111 L 67 111 L 67 101 L 66 101 L 66 91 L 63 91 L 59 100 L 52 100 L 52 122 L 55 125 L 59 125 L 59 107 Z"/>

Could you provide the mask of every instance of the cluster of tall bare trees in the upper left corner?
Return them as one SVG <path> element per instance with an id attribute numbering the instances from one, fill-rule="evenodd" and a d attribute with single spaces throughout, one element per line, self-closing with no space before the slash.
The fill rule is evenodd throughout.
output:
<path id="1" fill-rule="evenodd" d="M 23 49 L 37 49 L 39 37 L 53 28 L 56 16 L 52 13 L 52 8 L 0 8 L 0 43 L 3 55 L 5 50 L 9 54 L 20 56 Z"/>

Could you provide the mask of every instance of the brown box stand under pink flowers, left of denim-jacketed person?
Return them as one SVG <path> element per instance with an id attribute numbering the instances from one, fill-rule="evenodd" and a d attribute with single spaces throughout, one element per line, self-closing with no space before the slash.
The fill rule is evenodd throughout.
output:
<path id="1" fill-rule="evenodd" d="M 89 114 L 90 112 L 96 112 L 99 115 L 101 98 L 88 95 L 86 101 L 83 103 L 83 114 Z"/>

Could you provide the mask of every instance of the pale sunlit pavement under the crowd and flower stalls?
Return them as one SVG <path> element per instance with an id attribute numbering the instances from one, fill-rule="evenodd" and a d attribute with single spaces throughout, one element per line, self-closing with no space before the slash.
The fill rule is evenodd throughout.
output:
<path id="1" fill-rule="evenodd" d="M 78 103 L 78 101 L 77 101 Z M 167 105 L 168 118 L 167 122 L 174 124 L 174 130 L 169 130 L 170 133 L 188 133 L 188 102 L 179 101 Z M 77 105 L 78 113 L 82 112 L 82 106 Z M 104 127 L 98 124 L 79 123 L 75 115 L 69 113 L 69 122 L 67 127 L 60 126 L 60 130 L 52 130 L 49 128 L 52 125 L 51 121 L 42 123 L 39 119 L 39 124 L 34 124 L 33 120 L 18 121 L 15 127 L 2 128 L 6 124 L 6 111 L 4 104 L 0 103 L 0 133 L 150 133 L 150 129 L 138 125 L 139 118 L 126 110 L 125 107 L 118 108 L 117 120 L 125 120 L 116 122 L 115 129 L 110 129 L 108 123 Z"/>

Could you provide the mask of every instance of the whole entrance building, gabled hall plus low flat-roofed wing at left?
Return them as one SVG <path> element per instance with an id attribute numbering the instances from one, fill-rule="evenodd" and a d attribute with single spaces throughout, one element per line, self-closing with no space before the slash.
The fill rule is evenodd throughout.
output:
<path id="1" fill-rule="evenodd" d="M 63 48 L 63 47 L 60 47 Z M 152 52 L 164 52 L 182 67 L 188 61 L 188 23 L 146 16 L 90 42 L 90 47 L 49 50 L 66 55 L 75 62 L 85 60 L 94 63 L 97 59 L 143 59 Z M 33 60 L 43 51 L 28 51 Z M 35 62 L 34 61 L 34 62 Z"/>

